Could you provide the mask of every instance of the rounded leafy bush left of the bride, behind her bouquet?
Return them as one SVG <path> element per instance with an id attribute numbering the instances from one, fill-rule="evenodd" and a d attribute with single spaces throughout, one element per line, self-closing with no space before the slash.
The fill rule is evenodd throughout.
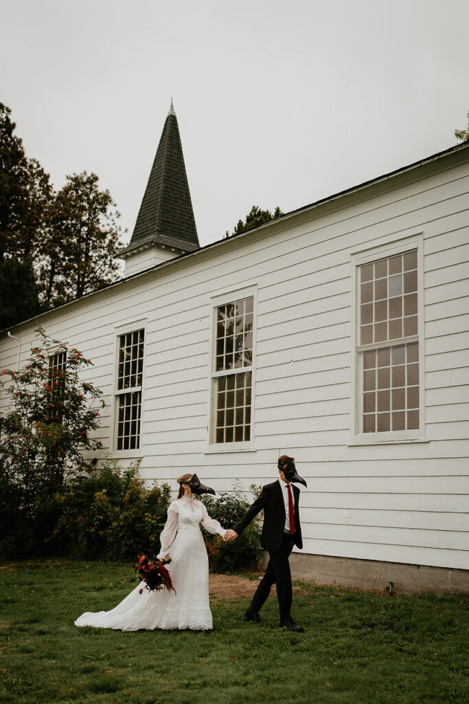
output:
<path id="1" fill-rule="evenodd" d="M 86 559 L 132 560 L 157 555 L 169 505 L 169 486 L 146 489 L 137 461 L 121 470 L 107 460 L 89 477 L 70 479 L 58 496 L 62 513 L 53 535 L 58 546 Z"/>

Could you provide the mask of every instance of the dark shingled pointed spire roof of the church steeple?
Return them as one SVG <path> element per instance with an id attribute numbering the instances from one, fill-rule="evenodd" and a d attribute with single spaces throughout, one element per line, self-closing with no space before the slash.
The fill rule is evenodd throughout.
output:
<path id="1" fill-rule="evenodd" d="M 200 246 L 172 101 L 134 233 L 121 254 L 150 244 L 176 247 L 182 251 Z"/>

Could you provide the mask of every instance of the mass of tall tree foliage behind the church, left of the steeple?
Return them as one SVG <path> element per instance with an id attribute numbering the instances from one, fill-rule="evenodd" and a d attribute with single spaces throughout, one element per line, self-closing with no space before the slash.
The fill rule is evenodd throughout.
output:
<path id="1" fill-rule="evenodd" d="M 39 304 L 47 310 L 113 282 L 119 270 L 115 255 L 123 247 L 119 217 L 94 173 L 69 175 L 54 191 L 39 162 L 27 158 L 10 108 L 0 103 L 0 279 L 11 274 L 7 298 L 15 291 L 15 305 L 4 306 L 8 314 L 0 329 L 35 315 Z M 32 301 L 31 263 L 39 302 Z"/>

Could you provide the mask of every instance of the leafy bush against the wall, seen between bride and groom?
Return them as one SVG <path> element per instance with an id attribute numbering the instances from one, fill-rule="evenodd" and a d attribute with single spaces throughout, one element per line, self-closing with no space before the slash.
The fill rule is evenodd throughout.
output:
<path id="1" fill-rule="evenodd" d="M 204 494 L 201 498 L 210 517 L 219 521 L 223 528 L 233 528 L 250 507 L 250 503 L 240 492 L 238 482 L 234 483 L 231 492 L 222 491 L 219 497 Z M 257 518 L 230 543 L 225 543 L 220 536 L 207 534 L 205 546 L 210 569 L 222 573 L 259 569 L 262 561 L 262 551 L 259 549 L 260 533 Z"/>

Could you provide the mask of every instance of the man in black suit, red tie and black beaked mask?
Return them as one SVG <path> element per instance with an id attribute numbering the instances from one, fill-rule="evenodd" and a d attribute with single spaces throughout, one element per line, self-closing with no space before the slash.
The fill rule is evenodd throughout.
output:
<path id="1" fill-rule="evenodd" d="M 261 547 L 269 551 L 269 562 L 252 602 L 245 612 L 249 621 L 260 621 L 259 610 L 269 596 L 271 586 L 277 588 L 280 625 L 290 631 L 302 633 L 290 615 L 292 605 L 292 579 L 288 558 L 293 545 L 302 548 L 300 511 L 298 500 L 300 489 L 291 482 L 306 482 L 296 471 L 295 460 L 288 455 L 278 458 L 278 481 L 262 487 L 259 497 L 252 504 L 234 529 L 226 532 L 225 540 L 234 540 L 240 535 L 252 519 L 264 509 L 264 526 L 262 527 Z M 293 489 L 293 491 L 292 491 Z"/>

